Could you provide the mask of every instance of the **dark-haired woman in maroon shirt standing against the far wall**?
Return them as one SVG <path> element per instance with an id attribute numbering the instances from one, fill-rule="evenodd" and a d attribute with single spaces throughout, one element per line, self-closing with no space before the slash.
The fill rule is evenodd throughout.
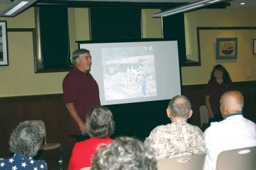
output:
<path id="1" fill-rule="evenodd" d="M 220 97 L 223 93 L 232 89 L 234 89 L 232 80 L 224 66 L 214 66 L 211 79 L 205 89 L 205 104 L 209 112 L 209 123 L 223 120 L 220 113 Z"/>

